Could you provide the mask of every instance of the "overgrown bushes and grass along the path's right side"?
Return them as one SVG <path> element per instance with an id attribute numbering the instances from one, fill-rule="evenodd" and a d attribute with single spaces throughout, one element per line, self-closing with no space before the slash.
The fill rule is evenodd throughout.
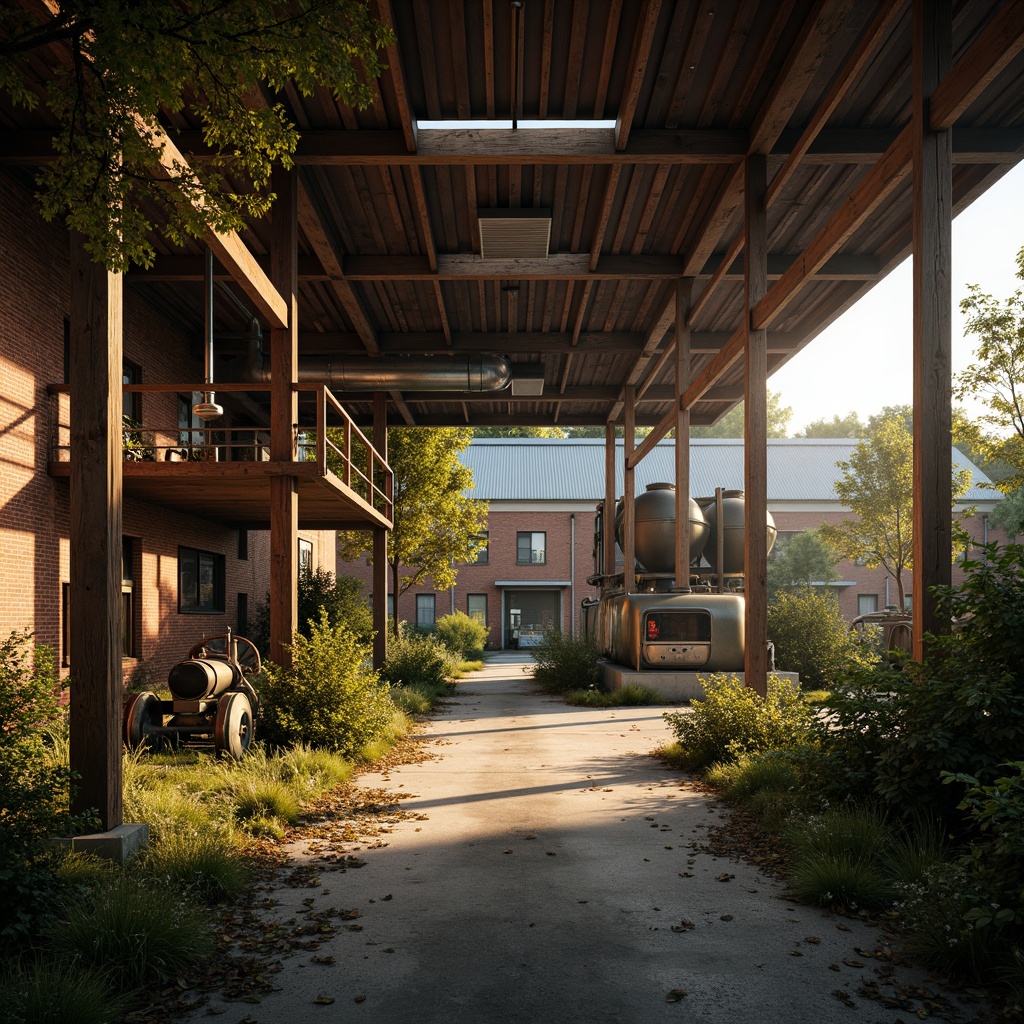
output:
<path id="1" fill-rule="evenodd" d="M 795 895 L 884 913 L 924 966 L 1024 995 L 1024 549 L 937 597 L 926 659 L 840 674 L 817 707 L 723 677 L 670 713 L 678 761 L 786 848 Z M 851 660 L 855 660 L 851 658 Z M 820 697 L 820 695 L 819 695 Z"/>

